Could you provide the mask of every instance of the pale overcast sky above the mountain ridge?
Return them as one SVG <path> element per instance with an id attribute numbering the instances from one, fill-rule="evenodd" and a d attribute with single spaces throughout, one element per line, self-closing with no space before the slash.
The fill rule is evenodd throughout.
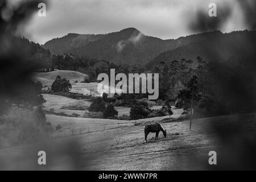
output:
<path id="1" fill-rule="evenodd" d="M 50 0 L 47 16 L 35 14 L 24 35 L 43 44 L 68 33 L 106 34 L 135 27 L 145 35 L 174 39 L 193 34 L 189 22 L 198 10 L 208 15 L 210 2 L 217 3 L 217 13 L 224 2 L 232 4 L 232 18 L 221 31 L 244 29 L 240 9 L 232 0 Z"/>

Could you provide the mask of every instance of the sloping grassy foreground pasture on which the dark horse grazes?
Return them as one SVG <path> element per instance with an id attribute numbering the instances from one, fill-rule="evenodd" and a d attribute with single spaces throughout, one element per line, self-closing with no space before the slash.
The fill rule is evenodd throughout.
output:
<path id="1" fill-rule="evenodd" d="M 14 148 L 0 149 L 0 159 L 11 163 L 12 169 L 40 169 L 32 157 L 36 151 L 46 148 L 48 151 L 48 166 L 44 169 L 87 169 L 87 170 L 196 170 L 209 169 L 208 152 L 217 151 L 222 154 L 228 150 L 224 141 L 213 129 L 213 123 L 227 125 L 237 121 L 237 115 L 225 115 L 214 118 L 194 119 L 192 130 L 189 121 L 162 123 L 167 129 L 167 138 L 162 133 L 158 140 L 153 140 L 154 134 L 148 135 L 149 142 L 144 142 L 143 127 L 130 125 L 115 127 L 73 137 L 53 138 L 42 145 L 34 144 Z M 243 115 L 241 121 L 244 127 L 239 136 L 230 136 L 238 148 L 245 146 L 243 137 L 255 134 L 255 115 Z M 110 119 L 65 118 L 47 115 L 52 125 L 62 123 L 64 127 L 100 126 L 113 123 Z M 125 121 L 123 121 L 125 122 Z M 232 143 L 232 142 L 229 142 Z M 75 148 L 79 148 L 75 150 Z M 225 150 L 224 150 L 225 149 Z M 60 152 L 61 151 L 61 152 Z M 75 153 L 73 153 L 75 152 Z M 74 155 L 70 158 L 67 155 Z M 8 159 L 8 161 L 6 161 Z M 77 160 L 76 160 L 77 159 Z M 226 159 L 226 158 L 225 158 Z M 35 161 L 34 161 L 35 160 Z"/>

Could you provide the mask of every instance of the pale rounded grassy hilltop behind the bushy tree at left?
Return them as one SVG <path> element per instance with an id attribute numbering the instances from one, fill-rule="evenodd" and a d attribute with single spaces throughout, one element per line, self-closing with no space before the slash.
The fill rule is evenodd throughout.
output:
<path id="1" fill-rule="evenodd" d="M 34 74 L 34 80 L 35 81 L 41 81 L 43 86 L 51 86 L 52 82 L 55 80 L 57 76 L 60 76 L 61 78 L 67 78 L 71 84 L 74 84 L 75 81 L 81 82 L 84 81 L 85 77 L 88 77 L 88 75 L 76 71 L 68 71 L 68 70 L 59 70 L 59 71 L 53 71 L 53 72 L 36 72 Z"/>

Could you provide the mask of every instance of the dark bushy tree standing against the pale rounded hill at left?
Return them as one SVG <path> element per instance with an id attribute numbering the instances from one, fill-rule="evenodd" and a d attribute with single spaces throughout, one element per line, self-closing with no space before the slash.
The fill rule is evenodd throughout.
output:
<path id="1" fill-rule="evenodd" d="M 51 87 L 52 92 L 69 92 L 70 89 L 72 89 L 72 85 L 69 80 L 66 78 L 61 79 L 60 76 L 56 77 Z"/>

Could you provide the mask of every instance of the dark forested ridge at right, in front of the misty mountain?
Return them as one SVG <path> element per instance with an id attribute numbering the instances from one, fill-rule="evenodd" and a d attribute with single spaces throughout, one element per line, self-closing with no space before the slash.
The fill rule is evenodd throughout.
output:
<path id="1" fill-rule="evenodd" d="M 205 39 L 180 46 L 170 51 L 162 52 L 147 63 L 147 69 L 159 67 L 162 62 L 191 60 L 197 61 L 200 57 L 204 61 L 230 61 L 241 57 L 253 57 L 251 53 L 256 47 L 256 31 L 235 31 L 228 34 L 217 33 L 214 36 L 205 36 Z"/>

